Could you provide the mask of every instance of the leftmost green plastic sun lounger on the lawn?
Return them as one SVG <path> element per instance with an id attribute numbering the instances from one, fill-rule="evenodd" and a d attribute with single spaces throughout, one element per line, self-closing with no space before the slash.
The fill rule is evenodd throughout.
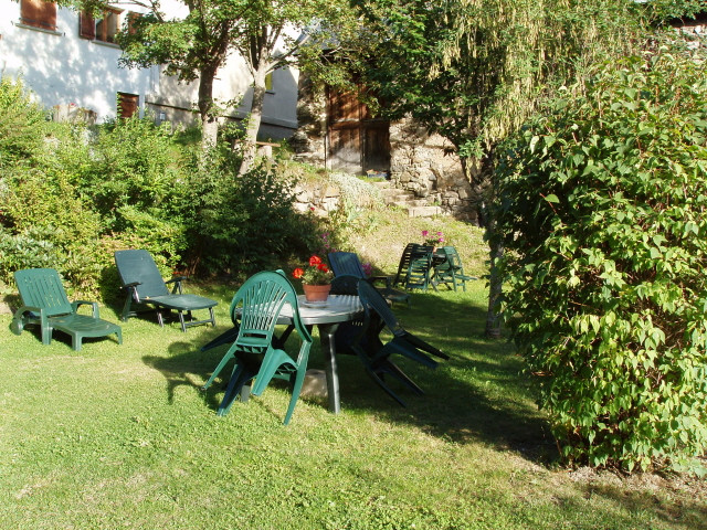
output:
<path id="1" fill-rule="evenodd" d="M 54 330 L 71 336 L 72 347 L 81 350 L 85 337 L 105 337 L 116 333 L 118 344 L 123 343 L 123 333 L 117 324 L 103 320 L 98 315 L 98 304 L 95 301 L 68 301 L 66 292 L 53 268 L 28 268 L 14 273 L 22 307 L 20 307 L 10 322 L 10 330 L 21 335 L 25 326 L 40 327 L 42 344 L 52 342 Z M 92 315 L 78 315 L 78 307 L 88 305 Z"/>

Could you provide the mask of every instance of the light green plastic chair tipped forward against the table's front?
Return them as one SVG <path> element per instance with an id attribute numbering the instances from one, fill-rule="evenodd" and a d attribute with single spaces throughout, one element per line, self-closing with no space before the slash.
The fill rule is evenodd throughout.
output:
<path id="1" fill-rule="evenodd" d="M 297 358 L 278 348 L 278 341 L 273 340 L 275 325 L 285 304 L 292 307 L 292 325 L 302 340 Z M 292 398 L 283 422 L 287 425 L 302 391 L 312 347 L 312 336 L 299 320 L 295 288 L 282 271 L 257 273 L 233 297 L 231 319 L 234 325 L 238 322 L 238 336 L 202 390 L 205 391 L 226 364 L 234 361 L 231 379 L 217 411 L 223 416 L 239 395 L 241 401 L 247 401 L 249 393 L 261 395 L 273 379 L 289 381 Z M 249 392 L 245 386 L 253 379 L 255 383 Z"/>

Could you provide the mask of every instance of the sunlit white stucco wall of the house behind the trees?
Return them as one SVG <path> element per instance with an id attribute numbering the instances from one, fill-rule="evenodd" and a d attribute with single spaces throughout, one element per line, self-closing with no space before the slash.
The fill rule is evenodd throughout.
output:
<path id="1" fill-rule="evenodd" d="M 179 14 L 179 2 L 165 2 L 163 8 Z M 140 12 L 131 2 L 116 8 Z M 170 12 L 170 11 L 168 11 Z M 96 114 L 97 121 L 115 118 L 117 94 L 138 96 L 140 113 L 149 109 L 157 120 L 196 123 L 192 110 L 198 83 L 178 83 L 162 75 L 161 66 L 150 68 L 118 67 L 120 49 L 114 44 L 80 36 L 78 13 L 56 9 L 55 31 L 32 28 L 21 21 L 19 1 L 0 0 L 0 74 L 21 77 L 34 98 L 48 108 L 77 106 Z M 297 127 L 297 80 L 295 70 L 273 73 L 273 89 L 264 102 L 261 137 L 287 138 Z M 214 97 L 226 102 L 242 98 L 238 109 L 228 114 L 244 118 L 252 94 L 251 76 L 243 60 L 232 55 L 214 83 Z"/>

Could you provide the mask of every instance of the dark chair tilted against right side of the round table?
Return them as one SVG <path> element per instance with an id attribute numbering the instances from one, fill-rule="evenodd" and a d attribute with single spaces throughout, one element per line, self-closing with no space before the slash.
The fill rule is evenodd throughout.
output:
<path id="1" fill-rule="evenodd" d="M 359 282 L 358 294 L 365 316 L 362 329 L 352 340 L 351 349 L 358 354 L 373 381 L 399 404 L 405 406 L 405 402 L 386 383 L 387 375 L 397 379 L 415 394 L 424 392 L 391 360 L 391 357 L 400 354 L 424 367 L 436 368 L 437 362 L 430 356 L 445 360 L 449 356 L 407 331 L 380 293 L 368 283 Z M 381 339 L 381 332 L 384 332 L 386 342 Z M 389 335 L 392 335 L 391 339 L 388 338 Z"/>

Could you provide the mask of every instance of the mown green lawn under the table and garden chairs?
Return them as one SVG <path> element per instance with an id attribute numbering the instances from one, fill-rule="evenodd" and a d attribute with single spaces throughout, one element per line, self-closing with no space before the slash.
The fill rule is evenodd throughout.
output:
<path id="1" fill-rule="evenodd" d="M 229 325 L 236 286 L 188 287 L 220 300 L 215 329 L 131 319 L 122 346 L 74 352 L 0 316 L 0 528 L 707 528 L 703 481 L 557 465 L 520 359 L 481 335 L 484 282 L 395 308 L 452 357 L 434 371 L 401 362 L 425 396 L 401 389 L 400 407 L 342 356 L 341 414 L 303 398 L 287 427 L 277 384 L 215 415 L 222 390 L 199 386 L 224 347 L 199 348 Z"/>

